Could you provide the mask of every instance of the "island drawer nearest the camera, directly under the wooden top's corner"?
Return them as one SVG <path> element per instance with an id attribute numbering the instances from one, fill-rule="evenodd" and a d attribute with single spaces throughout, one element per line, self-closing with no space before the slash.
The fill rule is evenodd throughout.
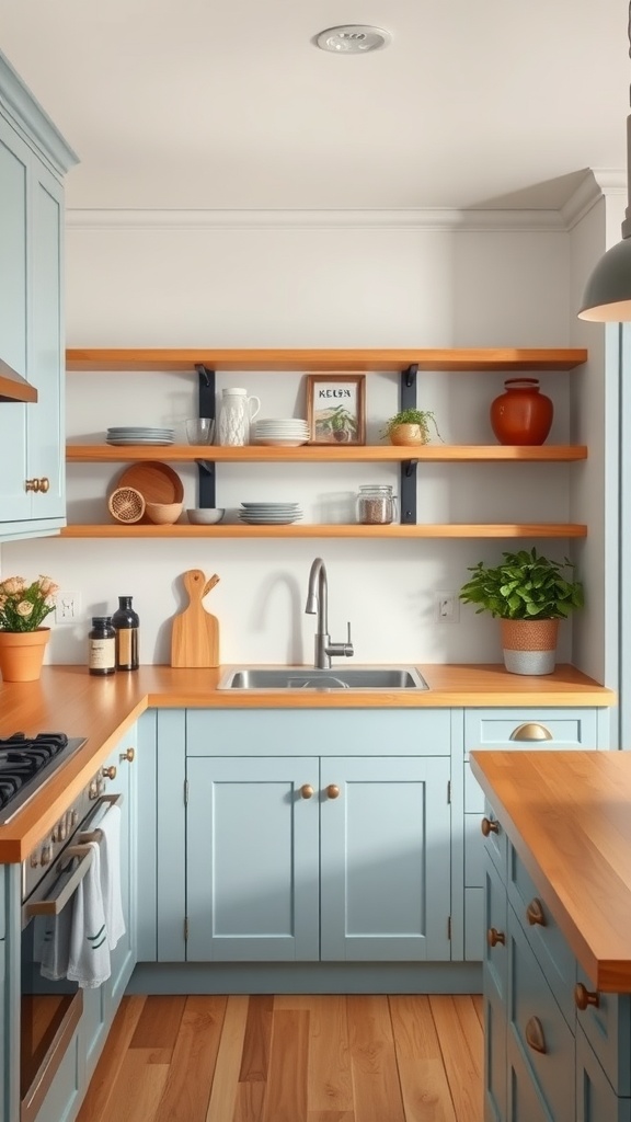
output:
<path id="1" fill-rule="evenodd" d="M 577 981 L 593 992 L 580 967 Z M 576 1023 L 587 1037 L 615 1093 L 631 1095 L 631 996 L 598 993 L 597 1006 L 577 1009 Z"/>

